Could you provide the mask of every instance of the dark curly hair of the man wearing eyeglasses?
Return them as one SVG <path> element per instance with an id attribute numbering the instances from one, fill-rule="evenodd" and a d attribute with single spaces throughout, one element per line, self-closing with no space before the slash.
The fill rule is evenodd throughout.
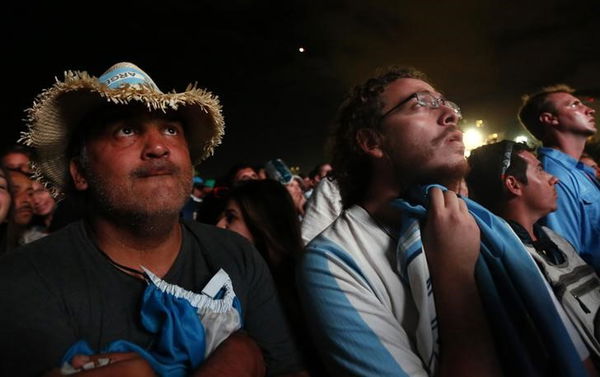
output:
<path id="1" fill-rule="evenodd" d="M 330 148 L 344 208 L 364 198 L 371 180 L 369 158 L 357 143 L 357 132 L 365 128 L 380 132 L 383 108 L 380 95 L 390 83 L 401 78 L 429 82 L 424 73 L 414 68 L 393 66 L 355 86 L 338 110 Z"/>

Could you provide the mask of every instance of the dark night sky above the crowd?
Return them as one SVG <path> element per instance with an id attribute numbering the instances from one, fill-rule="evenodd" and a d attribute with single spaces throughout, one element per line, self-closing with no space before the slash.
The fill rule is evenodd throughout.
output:
<path id="1" fill-rule="evenodd" d="M 118 61 L 163 91 L 189 82 L 221 98 L 223 144 L 203 176 L 281 157 L 305 172 L 325 158 L 335 110 L 375 68 L 411 65 L 490 132 L 517 133 L 523 93 L 557 82 L 600 96 L 598 1 L 20 1 L 5 5 L 5 122 L 66 69 Z M 305 53 L 298 48 L 304 47 Z"/>

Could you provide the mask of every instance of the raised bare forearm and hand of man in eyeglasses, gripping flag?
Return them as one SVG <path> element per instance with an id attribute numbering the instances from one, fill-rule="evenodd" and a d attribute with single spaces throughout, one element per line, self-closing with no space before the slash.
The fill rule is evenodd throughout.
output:
<path id="1" fill-rule="evenodd" d="M 452 191 L 430 191 L 423 247 L 440 335 L 440 376 L 499 376 L 501 370 L 475 284 L 479 228 Z"/>

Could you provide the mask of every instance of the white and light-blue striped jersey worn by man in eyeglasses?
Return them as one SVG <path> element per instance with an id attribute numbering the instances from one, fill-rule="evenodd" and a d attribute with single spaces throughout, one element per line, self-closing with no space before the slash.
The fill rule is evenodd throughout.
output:
<path id="1" fill-rule="evenodd" d="M 360 206 L 307 246 L 298 288 L 332 376 L 429 376 L 415 351 L 418 311 L 396 272 L 396 241 Z"/>

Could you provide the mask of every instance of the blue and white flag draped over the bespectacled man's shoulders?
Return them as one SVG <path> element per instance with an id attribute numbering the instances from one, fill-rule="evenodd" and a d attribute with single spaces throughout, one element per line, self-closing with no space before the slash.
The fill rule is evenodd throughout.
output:
<path id="1" fill-rule="evenodd" d="M 432 187 L 410 191 L 402 210 L 397 271 L 409 285 L 419 311 L 417 350 L 430 375 L 439 359 L 438 321 L 431 278 L 421 243 L 420 221 L 427 216 Z M 585 376 L 581 359 L 548 290 L 523 244 L 504 220 L 462 198 L 481 231 L 475 277 L 496 350 L 507 375 Z"/>

